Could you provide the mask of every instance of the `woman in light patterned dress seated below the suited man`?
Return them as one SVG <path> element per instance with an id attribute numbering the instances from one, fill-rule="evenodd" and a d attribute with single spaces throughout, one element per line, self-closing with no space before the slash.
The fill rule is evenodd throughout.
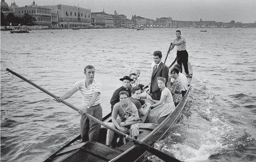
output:
<path id="1" fill-rule="evenodd" d="M 172 94 L 170 90 L 165 87 L 166 79 L 163 77 L 157 78 L 158 87 L 162 90 L 160 100 L 153 100 L 150 96 L 148 97 L 154 104 L 151 105 L 151 111 L 149 113 L 148 121 L 149 123 L 161 123 L 161 117 L 172 113 L 175 110 L 175 105 L 173 103 Z"/>

